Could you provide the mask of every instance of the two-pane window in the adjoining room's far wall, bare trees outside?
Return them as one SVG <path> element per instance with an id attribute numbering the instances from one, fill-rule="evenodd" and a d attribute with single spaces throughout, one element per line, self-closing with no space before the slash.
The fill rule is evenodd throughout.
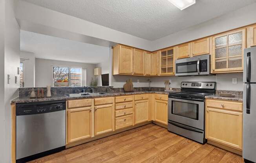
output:
<path id="1" fill-rule="evenodd" d="M 53 66 L 53 86 L 82 86 L 82 68 Z"/>

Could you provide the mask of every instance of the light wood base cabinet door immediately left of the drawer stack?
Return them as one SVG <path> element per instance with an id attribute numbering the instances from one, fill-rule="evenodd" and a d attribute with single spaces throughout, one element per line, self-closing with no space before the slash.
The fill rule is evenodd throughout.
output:
<path id="1" fill-rule="evenodd" d="M 96 106 L 94 110 L 95 135 L 113 131 L 113 105 Z"/>

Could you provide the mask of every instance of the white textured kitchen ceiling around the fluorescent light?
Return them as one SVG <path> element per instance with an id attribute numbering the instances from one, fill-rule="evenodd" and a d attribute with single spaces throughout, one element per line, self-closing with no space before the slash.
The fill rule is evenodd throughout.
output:
<path id="1" fill-rule="evenodd" d="M 180 11 L 168 0 L 25 0 L 147 40 L 205 22 L 256 0 L 196 0 Z"/>

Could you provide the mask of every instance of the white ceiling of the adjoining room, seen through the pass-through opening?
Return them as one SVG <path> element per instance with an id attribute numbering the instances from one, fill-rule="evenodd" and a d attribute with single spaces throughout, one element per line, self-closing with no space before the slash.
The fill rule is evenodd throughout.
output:
<path id="1" fill-rule="evenodd" d="M 101 63 L 109 60 L 109 48 L 20 31 L 20 50 L 35 53 L 36 58 L 81 63 Z"/>

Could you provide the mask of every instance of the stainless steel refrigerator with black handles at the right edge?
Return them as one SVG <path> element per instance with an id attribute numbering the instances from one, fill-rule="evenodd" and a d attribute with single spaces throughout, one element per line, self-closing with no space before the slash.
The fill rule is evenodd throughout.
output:
<path id="1" fill-rule="evenodd" d="M 256 47 L 244 50 L 243 158 L 256 163 Z"/>

